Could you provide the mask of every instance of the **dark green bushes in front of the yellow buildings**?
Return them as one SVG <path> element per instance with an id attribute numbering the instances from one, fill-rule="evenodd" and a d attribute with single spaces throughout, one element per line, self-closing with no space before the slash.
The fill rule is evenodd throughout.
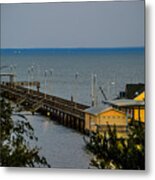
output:
<path id="1" fill-rule="evenodd" d="M 92 133 L 86 149 L 94 154 L 91 165 L 99 169 L 145 169 L 145 125 L 133 121 L 127 138 L 117 138 L 116 127 Z"/>

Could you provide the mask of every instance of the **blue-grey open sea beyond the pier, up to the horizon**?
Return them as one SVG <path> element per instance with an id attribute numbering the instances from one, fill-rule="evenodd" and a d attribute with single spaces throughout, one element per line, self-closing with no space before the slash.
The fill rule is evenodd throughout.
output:
<path id="1" fill-rule="evenodd" d="M 144 52 L 130 51 L 58 51 L 53 53 L 18 53 L 2 56 L 2 65 L 16 66 L 5 69 L 16 71 L 17 81 L 39 80 L 44 91 L 47 70 L 47 93 L 91 104 L 91 76 L 97 75 L 98 103 L 103 99 L 99 86 L 108 98 L 114 98 L 127 83 L 144 83 Z M 32 68 L 33 67 L 33 68 Z M 31 75 L 28 75 L 31 69 Z M 52 73 L 51 73 L 52 71 Z M 75 75 L 78 73 L 77 80 Z"/>

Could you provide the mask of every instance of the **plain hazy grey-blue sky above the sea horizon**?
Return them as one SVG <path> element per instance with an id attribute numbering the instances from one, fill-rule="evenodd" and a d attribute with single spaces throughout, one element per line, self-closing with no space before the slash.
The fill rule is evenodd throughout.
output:
<path id="1" fill-rule="evenodd" d="M 144 46 L 144 1 L 1 4 L 1 48 Z"/>

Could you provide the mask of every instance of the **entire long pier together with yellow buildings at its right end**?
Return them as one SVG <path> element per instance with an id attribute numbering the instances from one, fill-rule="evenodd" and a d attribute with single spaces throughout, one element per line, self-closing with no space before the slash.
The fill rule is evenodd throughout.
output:
<path id="1" fill-rule="evenodd" d="M 82 133 L 103 133 L 108 131 L 109 126 L 113 128 L 116 125 L 119 136 L 126 137 L 131 120 L 145 122 L 144 84 L 127 84 L 123 92 L 125 96 L 121 97 L 121 93 L 120 98 L 114 100 L 108 100 L 100 87 L 104 97 L 100 106 L 96 101 L 96 76 L 92 76 L 92 106 L 89 107 L 76 102 L 73 96 L 71 100 L 67 100 L 47 94 L 46 77 L 44 92 L 40 92 L 39 81 L 16 81 L 13 73 L 1 73 L 0 78 L 2 77 L 9 77 L 9 80 L 0 81 L 0 95 L 15 102 L 18 111 L 27 110 L 32 114 L 39 112 Z M 36 89 L 32 89 L 32 86 Z"/>

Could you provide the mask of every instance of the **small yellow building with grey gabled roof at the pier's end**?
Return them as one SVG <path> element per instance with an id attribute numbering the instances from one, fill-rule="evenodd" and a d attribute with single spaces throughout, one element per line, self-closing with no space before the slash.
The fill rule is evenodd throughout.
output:
<path id="1" fill-rule="evenodd" d="M 126 132 L 128 122 L 126 114 L 107 105 L 91 107 L 85 110 L 86 131 L 107 131 L 108 125 L 116 126 L 117 131 Z"/>

